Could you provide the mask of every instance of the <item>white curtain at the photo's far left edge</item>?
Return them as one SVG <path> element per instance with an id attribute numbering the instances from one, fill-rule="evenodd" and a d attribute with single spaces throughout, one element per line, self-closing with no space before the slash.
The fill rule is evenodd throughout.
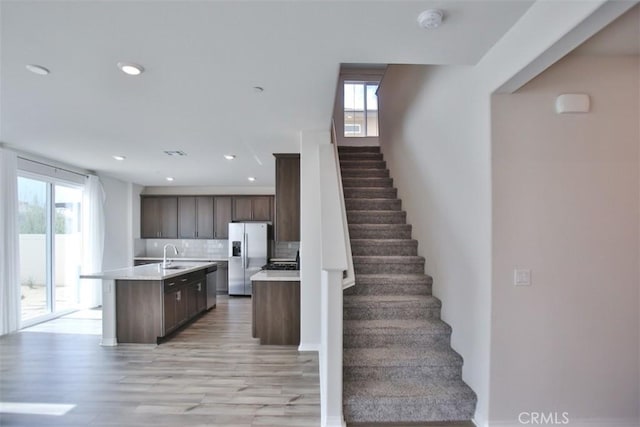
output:
<path id="1" fill-rule="evenodd" d="M 20 328 L 18 158 L 0 148 L 0 335 Z"/>

